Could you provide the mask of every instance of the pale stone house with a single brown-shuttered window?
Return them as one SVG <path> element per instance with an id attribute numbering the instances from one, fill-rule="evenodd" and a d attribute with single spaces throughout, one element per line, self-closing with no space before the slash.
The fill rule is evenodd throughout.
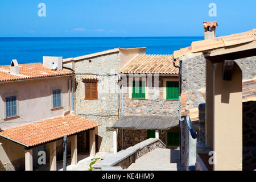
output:
<path id="1" fill-rule="evenodd" d="M 145 54 L 146 48 L 114 48 L 63 60 L 64 67 L 75 73 L 74 110 L 82 117 L 101 124 L 96 129 L 96 151 L 113 152 L 113 124 L 120 115 L 118 71 L 134 56 Z M 88 140 L 86 133 L 78 136 L 79 147 Z"/>

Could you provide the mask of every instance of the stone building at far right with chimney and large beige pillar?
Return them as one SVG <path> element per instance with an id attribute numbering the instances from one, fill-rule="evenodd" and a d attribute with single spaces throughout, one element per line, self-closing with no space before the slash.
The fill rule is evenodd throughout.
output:
<path id="1" fill-rule="evenodd" d="M 211 28 L 214 32 L 208 32 L 208 27 Z M 180 97 L 180 127 L 181 129 L 181 162 L 189 166 L 195 166 L 195 163 L 197 164 L 197 169 L 204 169 L 204 170 L 221 170 L 221 169 L 255 169 L 255 121 L 253 121 L 255 112 L 253 110 L 253 107 L 255 107 L 255 60 L 256 57 L 253 55 L 253 53 L 242 52 L 246 49 L 253 50 L 255 49 L 255 30 L 242 32 L 240 34 L 233 34 L 228 36 L 221 36 L 218 38 L 214 38 L 215 31 L 216 31 L 217 23 L 214 22 L 204 22 L 204 29 L 205 29 L 205 39 L 199 42 L 192 42 L 191 47 L 182 48 L 179 51 L 174 51 L 174 59 L 176 61 L 180 62 L 181 65 L 181 73 L 180 77 L 182 77 L 182 84 L 181 84 L 181 97 Z M 212 36 L 210 36 L 212 35 Z M 246 48 L 245 48 L 246 47 Z M 234 52 L 232 52 L 234 50 Z M 218 56 L 218 52 L 221 52 Z M 225 52 L 226 51 L 226 52 Z M 231 51 L 231 52 L 229 52 Z M 210 55 L 211 54 L 211 55 Z M 214 58 L 214 56 L 216 58 Z M 233 55 L 233 57 L 230 57 L 230 55 Z M 236 55 L 236 56 L 235 56 Z M 243 55 L 243 56 L 240 56 Z M 208 61 L 208 57 L 209 60 Z M 218 65 L 217 58 L 220 59 L 220 64 L 222 64 L 222 67 Z M 231 59 L 232 58 L 232 59 Z M 216 59 L 216 60 L 212 60 Z M 230 61 L 231 64 L 228 64 L 228 61 L 223 60 L 233 60 Z M 228 65 L 227 65 L 228 64 Z M 218 78 L 218 81 L 215 81 L 217 84 L 214 88 L 215 91 L 212 90 L 212 82 L 213 82 L 213 76 L 214 74 L 217 74 L 217 69 L 222 69 L 222 76 L 223 80 L 227 79 L 224 78 L 225 71 L 228 73 L 233 73 L 234 67 L 232 65 L 236 65 L 241 70 L 242 73 L 242 80 L 241 80 L 241 88 L 242 88 L 242 96 L 237 97 L 237 100 L 242 100 L 242 106 L 243 111 L 237 110 L 237 114 L 234 114 L 234 110 L 238 108 L 233 108 L 233 105 L 230 105 L 230 107 L 223 107 L 224 113 L 218 113 L 217 110 L 213 111 L 212 107 L 208 107 L 207 104 L 205 105 L 205 102 L 209 105 L 212 105 L 212 95 L 213 93 L 210 92 L 224 92 L 227 88 L 222 85 L 220 88 L 219 83 L 221 84 L 222 81 Z M 228 68 L 225 69 L 225 67 L 230 67 L 229 71 Z M 238 69 L 238 70 L 239 70 Z M 208 74 L 207 75 L 207 71 Z M 227 74 L 226 73 L 226 74 Z M 215 78 L 217 79 L 217 78 Z M 233 78 L 232 78 L 233 80 Z M 229 85 L 229 80 L 224 81 L 225 84 Z M 238 84 L 238 87 L 240 85 Z M 230 87 L 231 88 L 231 87 Z M 211 90 L 211 91 L 209 91 Z M 229 92 L 233 92 L 230 91 Z M 240 91 L 238 91 L 240 92 Z M 229 93 L 231 94 L 231 93 Z M 217 95 L 217 93 L 216 93 Z M 217 98 L 217 96 L 215 96 Z M 222 103 L 230 103 L 230 98 L 222 98 L 222 101 L 220 103 L 215 103 L 216 105 L 220 105 L 222 107 Z M 205 107 L 208 107 L 208 111 L 205 113 Z M 209 109 L 210 108 L 210 109 Z M 241 123 L 241 126 L 234 125 L 234 129 L 236 128 L 236 131 L 238 131 L 237 135 L 234 136 L 234 133 L 229 133 L 229 135 L 225 134 L 225 131 L 232 131 L 231 126 L 229 125 L 229 129 L 227 129 L 226 125 L 222 124 L 219 127 L 221 129 L 218 129 L 220 133 L 222 132 L 222 129 L 226 136 L 225 139 L 219 138 L 218 143 L 215 143 L 215 146 L 213 144 L 213 133 L 217 131 L 217 128 L 213 129 L 212 123 L 213 123 L 213 114 L 214 112 L 215 117 L 218 117 L 218 120 L 222 121 L 224 115 L 228 115 L 228 110 L 233 110 L 233 115 L 237 115 L 238 118 L 243 118 L 241 121 L 237 121 L 238 123 Z M 240 108 L 241 109 L 241 108 Z M 218 110 L 219 111 L 219 110 Z M 241 114 L 241 115 L 239 115 Z M 233 118 L 234 121 L 237 118 L 234 118 L 234 116 L 230 116 L 228 119 Z M 207 123 L 208 120 L 208 123 Z M 234 122 L 233 121 L 233 122 Z M 187 126 L 187 122 L 191 122 L 192 127 Z M 223 121 L 225 123 L 226 121 Z M 217 125 L 216 125 L 217 126 Z M 233 127 L 233 124 L 232 124 Z M 189 135 L 187 135 L 187 131 L 189 130 Z M 234 130 L 235 131 L 235 130 Z M 197 138 L 192 138 L 192 135 L 197 132 Z M 241 134 L 241 135 L 240 135 Z M 216 133 L 217 135 L 217 133 Z M 230 142 L 234 138 L 237 138 L 237 140 L 241 140 L 242 143 L 226 143 L 224 140 L 229 140 Z M 225 143 L 225 144 L 224 144 Z M 218 148 L 218 144 L 222 148 Z M 224 146 L 223 146 L 224 144 Z M 233 147 L 240 147 L 240 150 L 237 154 L 240 156 L 233 156 L 236 158 L 236 160 L 233 160 L 232 154 L 230 156 L 225 156 L 224 153 L 227 153 L 230 151 L 230 148 Z M 229 148 L 228 148 L 229 147 Z M 241 150 L 242 147 L 242 150 Z M 215 148 L 215 149 L 214 149 Z M 225 148 L 225 149 L 224 149 Z M 218 151 L 221 150 L 222 152 Z M 196 152 L 195 152 L 196 151 Z M 217 156 L 220 156 L 218 162 L 222 160 L 223 162 L 226 162 L 229 166 L 226 166 L 224 168 L 224 165 L 219 164 L 217 165 L 209 165 L 206 161 L 208 161 L 209 156 L 208 152 L 215 151 L 217 152 Z M 223 152 L 225 151 L 225 152 Z M 237 151 L 237 149 L 234 151 Z M 231 152 L 232 153 L 232 152 Z M 225 156 L 225 157 L 224 157 Z M 223 159 L 221 159 L 223 157 Z M 242 161 L 238 160 L 238 158 L 242 159 Z M 234 162 L 232 164 L 231 160 L 236 161 L 237 163 L 240 163 L 237 166 L 237 163 Z M 240 162 L 238 162 L 240 161 Z M 189 163 L 190 162 L 190 163 Z"/>

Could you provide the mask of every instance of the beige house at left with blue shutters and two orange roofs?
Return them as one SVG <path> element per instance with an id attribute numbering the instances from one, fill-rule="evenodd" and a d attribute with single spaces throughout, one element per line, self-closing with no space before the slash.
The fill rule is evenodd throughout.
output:
<path id="1" fill-rule="evenodd" d="M 63 69 L 62 57 L 43 57 L 43 64 L 13 60 L 0 66 L 1 171 L 31 171 L 43 164 L 56 170 L 64 136 L 71 163 L 76 164 L 77 134 L 84 131 L 90 133 L 90 155 L 95 155 L 94 129 L 100 124 L 73 114 L 74 75 Z"/>

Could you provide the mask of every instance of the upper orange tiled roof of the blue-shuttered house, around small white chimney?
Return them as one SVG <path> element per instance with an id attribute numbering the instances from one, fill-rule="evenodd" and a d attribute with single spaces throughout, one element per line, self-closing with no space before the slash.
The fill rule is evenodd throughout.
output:
<path id="1" fill-rule="evenodd" d="M 19 75 L 11 75 L 10 65 L 0 65 L 0 82 L 74 74 L 74 72 L 64 69 L 61 71 L 51 70 L 43 67 L 42 63 L 19 64 L 19 73 Z"/>

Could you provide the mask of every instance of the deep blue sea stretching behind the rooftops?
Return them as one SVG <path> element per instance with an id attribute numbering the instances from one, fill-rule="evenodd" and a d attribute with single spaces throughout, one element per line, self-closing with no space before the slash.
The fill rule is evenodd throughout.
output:
<path id="1" fill-rule="evenodd" d="M 9 65 L 13 59 L 19 64 L 42 63 L 43 56 L 64 59 L 113 48 L 146 47 L 146 54 L 171 55 L 203 39 L 201 36 L 0 38 L 0 65 Z"/>

